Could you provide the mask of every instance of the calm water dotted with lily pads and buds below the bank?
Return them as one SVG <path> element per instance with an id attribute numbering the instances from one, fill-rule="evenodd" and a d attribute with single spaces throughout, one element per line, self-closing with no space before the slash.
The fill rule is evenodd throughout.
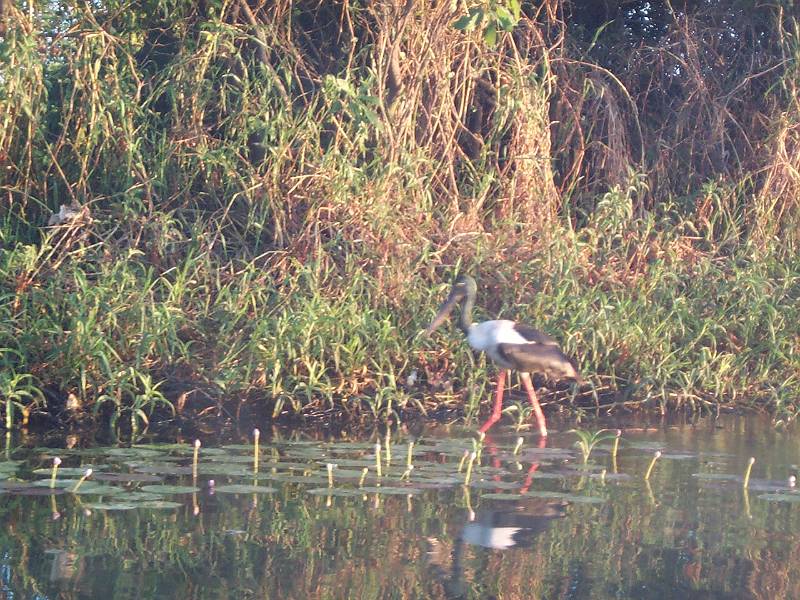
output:
<path id="1" fill-rule="evenodd" d="M 275 435 L 256 475 L 246 443 L 202 447 L 196 477 L 190 444 L 14 449 L 0 598 L 800 598 L 800 442 L 765 419 L 628 427 L 586 466 L 572 433 L 515 455 L 508 428 L 438 427 L 409 470 L 392 436 L 387 458 L 382 436 Z"/>

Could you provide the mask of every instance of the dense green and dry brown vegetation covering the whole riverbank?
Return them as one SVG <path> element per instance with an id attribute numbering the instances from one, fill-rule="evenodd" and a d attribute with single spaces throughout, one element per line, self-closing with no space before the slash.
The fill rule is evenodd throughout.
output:
<path id="1" fill-rule="evenodd" d="M 796 8 L 599 4 L 0 2 L 7 423 L 474 415 L 461 271 L 550 400 L 792 418 Z"/>

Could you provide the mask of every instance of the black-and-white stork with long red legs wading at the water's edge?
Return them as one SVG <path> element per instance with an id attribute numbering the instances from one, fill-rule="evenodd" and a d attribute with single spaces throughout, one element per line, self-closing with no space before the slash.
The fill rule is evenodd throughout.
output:
<path id="1" fill-rule="evenodd" d="M 539 406 L 536 392 L 533 390 L 530 374 L 541 373 L 553 380 L 574 379 L 578 383 L 582 383 L 583 379 L 569 357 L 558 347 L 558 342 L 549 335 L 533 327 L 506 319 L 473 323 L 472 308 L 475 305 L 477 291 L 478 286 L 472 277 L 469 275 L 459 277 L 453 284 L 447 300 L 431 321 L 426 333 L 431 334 L 444 323 L 453 307 L 461 303 L 461 319 L 458 326 L 466 334 L 469 345 L 475 350 L 486 352 L 489 358 L 500 366 L 494 409 L 486 423 L 481 426 L 480 431 L 485 433 L 500 419 L 506 369 L 513 369 L 519 373 L 525 391 L 528 393 L 539 425 L 539 432 L 543 437 L 547 436 L 544 413 L 542 413 L 542 407 Z"/>

